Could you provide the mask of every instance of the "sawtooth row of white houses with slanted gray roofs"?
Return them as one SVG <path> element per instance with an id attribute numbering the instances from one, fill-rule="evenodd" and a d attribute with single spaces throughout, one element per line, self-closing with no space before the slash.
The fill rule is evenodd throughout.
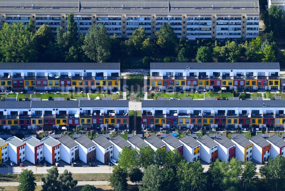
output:
<path id="1" fill-rule="evenodd" d="M 94 162 L 108 163 L 112 159 L 118 160 L 119 153 L 124 147 L 141 149 L 150 146 L 152 149 L 177 149 L 187 161 L 193 162 L 199 159 L 211 163 L 217 159 L 230 161 L 235 157 L 243 162 L 255 160 L 263 164 L 269 157 L 277 155 L 285 157 L 285 140 L 278 135 L 264 138 L 258 134 L 249 139 L 243 134 L 236 134 L 232 139 L 225 135 L 216 135 L 210 138 L 207 135 L 196 137 L 195 134 L 185 135 L 177 139 L 168 134 L 160 139 L 156 135 L 150 135 L 143 139 L 142 136 L 130 136 L 127 140 L 117 135 L 105 137 L 99 135 L 89 139 L 85 135 L 72 139 L 65 135 L 58 139 L 50 136 L 38 140 L 31 136 L 21 140 L 15 136 L 6 141 L 0 139 L 2 152 L 1 163 L 12 161 L 18 165 L 25 160 L 36 164 L 42 160 L 54 165 L 62 160 L 68 164 L 81 160 L 84 163 Z"/>

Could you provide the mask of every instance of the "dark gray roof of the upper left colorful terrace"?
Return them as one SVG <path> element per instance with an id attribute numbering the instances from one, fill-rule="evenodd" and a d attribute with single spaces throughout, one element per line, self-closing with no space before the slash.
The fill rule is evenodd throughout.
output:
<path id="1" fill-rule="evenodd" d="M 34 2 L 36 3 L 36 2 Z M 1 5 L 2 3 L 0 3 Z M 31 7 L 32 5 L 30 5 Z M 78 6 L 78 5 L 77 5 Z M 18 69 L 18 70 L 27 70 L 27 69 L 33 69 L 33 70 L 46 70 L 46 69 L 58 69 L 58 70 L 76 70 L 76 69 L 82 69 L 82 70 L 111 70 L 111 69 L 120 69 L 120 63 L 59 63 L 59 62 L 48 62 L 48 63 L 42 63 L 42 62 L 36 62 L 36 63 L 0 63 L 0 70 L 5 69 Z"/>

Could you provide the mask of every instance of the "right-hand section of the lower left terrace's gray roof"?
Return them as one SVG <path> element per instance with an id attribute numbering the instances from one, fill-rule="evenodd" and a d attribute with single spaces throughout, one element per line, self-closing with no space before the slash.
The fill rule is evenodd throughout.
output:
<path id="1" fill-rule="evenodd" d="M 80 107 L 129 107 L 128 100 L 80 100 Z"/>

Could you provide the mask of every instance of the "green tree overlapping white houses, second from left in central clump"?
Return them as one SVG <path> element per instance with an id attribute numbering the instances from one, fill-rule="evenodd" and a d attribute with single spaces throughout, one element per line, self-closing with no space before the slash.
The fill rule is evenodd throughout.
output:
<path id="1" fill-rule="evenodd" d="M 139 150 L 140 166 L 146 169 L 154 161 L 154 150 L 151 147 L 143 146 Z"/>

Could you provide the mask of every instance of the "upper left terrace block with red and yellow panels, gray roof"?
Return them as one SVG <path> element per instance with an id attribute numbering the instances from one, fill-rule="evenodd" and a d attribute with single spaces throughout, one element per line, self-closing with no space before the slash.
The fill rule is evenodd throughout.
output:
<path id="1" fill-rule="evenodd" d="M 120 63 L 1 63 L 0 81 L 6 91 L 119 91 Z"/>

